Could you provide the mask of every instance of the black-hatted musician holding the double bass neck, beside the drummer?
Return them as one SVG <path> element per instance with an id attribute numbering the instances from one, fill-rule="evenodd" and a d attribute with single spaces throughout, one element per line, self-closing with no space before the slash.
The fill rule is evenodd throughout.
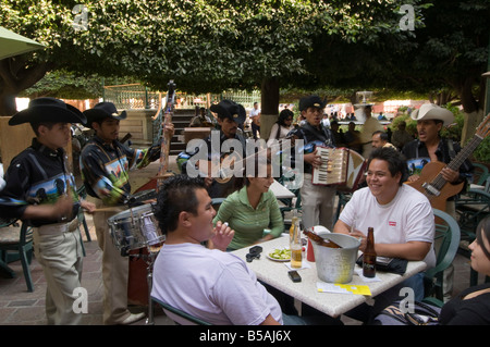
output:
<path id="1" fill-rule="evenodd" d="M 82 177 L 98 210 L 106 210 L 94 213 L 97 241 L 103 251 L 103 323 L 131 324 L 145 314 L 127 310 L 128 261 L 110 238 L 107 221 L 127 209 L 124 203 L 131 195 L 128 171 L 143 169 L 159 159 L 160 145 L 133 149 L 121 144 L 120 121 L 126 119 L 127 114 L 126 111 L 118 112 L 112 102 L 99 102 L 84 114 L 87 119 L 85 126 L 91 127 L 95 136 L 82 150 Z M 173 136 L 173 124 L 168 125 L 164 132 Z"/>

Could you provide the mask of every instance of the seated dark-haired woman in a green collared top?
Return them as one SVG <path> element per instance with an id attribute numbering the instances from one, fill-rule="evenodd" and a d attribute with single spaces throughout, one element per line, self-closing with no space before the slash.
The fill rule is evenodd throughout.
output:
<path id="1" fill-rule="evenodd" d="M 274 182 L 271 163 L 267 160 L 267 175 L 264 172 L 259 174 L 266 165 L 260 165 L 261 160 L 258 160 L 258 157 L 255 156 L 255 174 L 246 171 L 243 179 L 237 179 L 242 181 L 238 183 L 238 190 L 226 197 L 213 220 L 213 223 L 228 222 L 235 231 L 235 236 L 229 245 L 232 250 L 272 239 L 284 232 L 278 200 L 269 190 Z M 264 235 L 266 228 L 270 230 L 270 233 Z"/>

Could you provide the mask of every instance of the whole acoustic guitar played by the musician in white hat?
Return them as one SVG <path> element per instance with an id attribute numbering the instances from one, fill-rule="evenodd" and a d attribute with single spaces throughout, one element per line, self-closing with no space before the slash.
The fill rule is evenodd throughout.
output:
<path id="1" fill-rule="evenodd" d="M 454 157 L 449 164 L 440 161 L 427 163 L 421 172 L 420 177 L 415 182 L 406 182 L 405 184 L 414 187 L 424 194 L 430 201 L 432 208 L 445 211 L 445 201 L 448 198 L 458 194 L 463 189 L 464 182 L 458 184 L 448 183 L 441 174 L 442 169 L 449 168 L 458 171 L 463 162 L 473 153 L 480 142 L 490 134 L 490 113 L 483 119 L 478 126 L 474 137 L 468 144 Z"/>

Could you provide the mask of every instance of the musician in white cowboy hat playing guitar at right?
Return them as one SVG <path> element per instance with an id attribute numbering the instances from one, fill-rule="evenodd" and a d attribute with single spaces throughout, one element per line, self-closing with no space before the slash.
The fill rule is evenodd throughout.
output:
<path id="1" fill-rule="evenodd" d="M 419 110 L 412 112 L 411 117 L 417 121 L 418 138 L 406 144 L 402 153 L 407 159 L 411 174 L 408 182 L 416 182 L 420 178 L 420 171 L 425 164 L 432 161 L 450 163 L 461 151 L 461 146 L 452 139 L 440 136 L 442 127 L 454 122 L 454 114 L 450 110 L 433 103 L 425 103 Z M 444 168 L 441 175 L 450 184 L 460 184 L 471 177 L 473 170 L 471 162 L 465 160 L 458 171 Z M 446 200 L 445 212 L 456 219 L 454 197 Z M 444 272 L 444 299 L 449 299 L 451 296 L 452 272 L 452 267 Z"/>

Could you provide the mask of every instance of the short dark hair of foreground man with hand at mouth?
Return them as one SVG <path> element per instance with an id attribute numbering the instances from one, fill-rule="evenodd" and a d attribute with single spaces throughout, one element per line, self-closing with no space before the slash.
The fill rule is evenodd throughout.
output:
<path id="1" fill-rule="evenodd" d="M 155 218 L 163 234 L 176 230 L 179 214 L 183 211 L 197 214 L 199 202 L 196 190 L 206 189 L 201 177 L 175 175 L 166 179 L 158 191 Z"/>

